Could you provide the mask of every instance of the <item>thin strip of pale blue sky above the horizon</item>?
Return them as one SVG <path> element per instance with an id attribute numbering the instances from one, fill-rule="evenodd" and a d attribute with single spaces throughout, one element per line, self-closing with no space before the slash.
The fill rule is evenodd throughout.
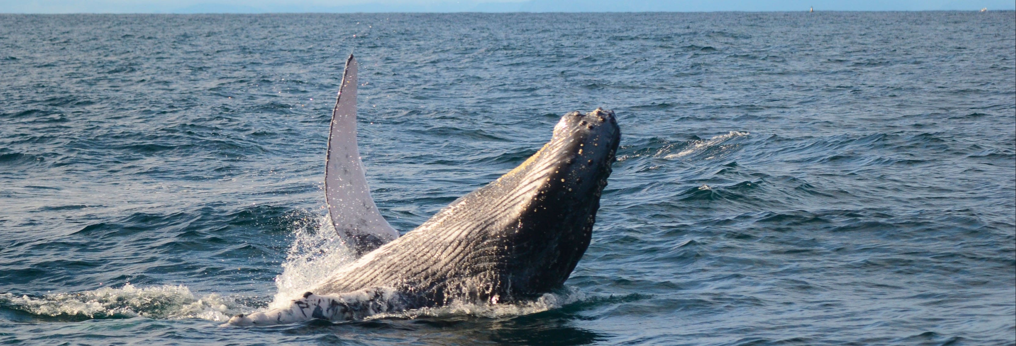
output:
<path id="1" fill-rule="evenodd" d="M 0 0 L 0 13 L 1013 10 L 1013 0 Z"/>

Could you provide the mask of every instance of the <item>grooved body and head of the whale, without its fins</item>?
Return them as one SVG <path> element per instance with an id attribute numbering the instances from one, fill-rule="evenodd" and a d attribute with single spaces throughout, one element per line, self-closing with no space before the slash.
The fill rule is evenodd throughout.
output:
<path id="1" fill-rule="evenodd" d="M 561 287 L 589 246 L 621 140 L 614 112 L 565 115 L 539 151 L 312 289 L 384 287 L 394 309 L 509 302 Z M 395 301 L 392 301 L 395 302 Z"/>

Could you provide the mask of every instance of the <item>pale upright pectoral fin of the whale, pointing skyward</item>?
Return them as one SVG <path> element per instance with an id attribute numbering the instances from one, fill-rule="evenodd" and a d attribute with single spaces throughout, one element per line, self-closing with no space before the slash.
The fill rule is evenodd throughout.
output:
<path id="1" fill-rule="evenodd" d="M 325 158 L 325 201 L 332 225 L 357 255 L 398 237 L 371 198 L 357 148 L 357 61 L 350 55 L 331 114 Z"/>

